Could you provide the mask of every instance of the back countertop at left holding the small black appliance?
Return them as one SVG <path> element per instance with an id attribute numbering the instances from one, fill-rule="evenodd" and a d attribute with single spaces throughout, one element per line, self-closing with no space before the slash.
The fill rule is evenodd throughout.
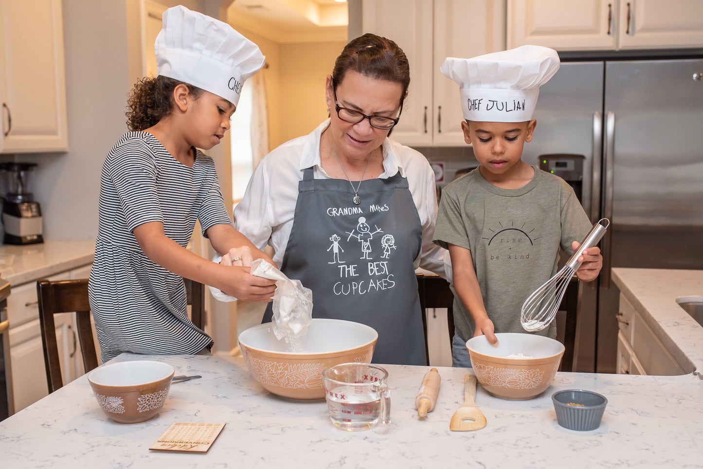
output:
<path id="1" fill-rule="evenodd" d="M 53 241 L 0 246 L 0 277 L 12 286 L 49 277 L 93 262 L 95 241 Z"/>

